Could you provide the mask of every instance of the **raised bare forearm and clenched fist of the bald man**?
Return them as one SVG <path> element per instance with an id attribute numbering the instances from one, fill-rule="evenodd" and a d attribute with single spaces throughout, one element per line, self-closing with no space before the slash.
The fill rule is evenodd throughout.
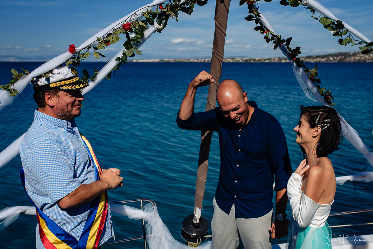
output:
<path id="1" fill-rule="evenodd" d="M 186 90 L 183 102 L 181 103 L 179 118 L 182 120 L 188 119 L 194 110 L 194 99 L 197 88 L 200 86 L 206 86 L 213 83 L 214 79 L 210 73 L 206 71 L 200 72 L 195 78 L 189 83 L 188 89 Z"/>

